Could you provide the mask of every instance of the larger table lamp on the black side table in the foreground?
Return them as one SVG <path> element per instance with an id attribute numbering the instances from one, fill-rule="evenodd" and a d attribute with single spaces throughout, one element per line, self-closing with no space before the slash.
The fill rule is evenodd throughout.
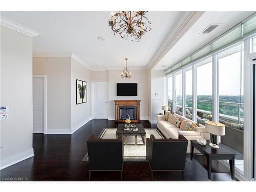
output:
<path id="1" fill-rule="evenodd" d="M 209 145 L 212 148 L 219 148 L 217 136 L 225 135 L 225 125 L 215 121 L 205 121 L 205 131 L 211 134 L 211 143 Z"/>

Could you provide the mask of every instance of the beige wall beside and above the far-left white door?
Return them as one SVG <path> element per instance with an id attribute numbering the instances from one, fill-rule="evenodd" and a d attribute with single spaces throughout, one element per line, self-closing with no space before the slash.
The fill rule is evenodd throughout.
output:
<path id="1" fill-rule="evenodd" d="M 71 129 L 71 58 L 33 58 L 33 75 L 47 75 L 47 133 Z"/>

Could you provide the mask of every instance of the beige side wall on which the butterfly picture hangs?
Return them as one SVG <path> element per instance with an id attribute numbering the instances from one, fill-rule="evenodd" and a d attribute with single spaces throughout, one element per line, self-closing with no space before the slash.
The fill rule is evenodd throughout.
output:
<path id="1" fill-rule="evenodd" d="M 87 102 L 76 104 L 76 79 L 87 81 Z M 91 120 L 91 71 L 71 59 L 71 127 L 72 132 Z"/>

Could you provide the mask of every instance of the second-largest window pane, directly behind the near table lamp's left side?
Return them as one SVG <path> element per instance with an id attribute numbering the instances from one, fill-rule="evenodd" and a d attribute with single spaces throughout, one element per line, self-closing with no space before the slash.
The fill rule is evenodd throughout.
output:
<path id="1" fill-rule="evenodd" d="M 212 57 L 197 63 L 197 122 L 212 120 Z"/>

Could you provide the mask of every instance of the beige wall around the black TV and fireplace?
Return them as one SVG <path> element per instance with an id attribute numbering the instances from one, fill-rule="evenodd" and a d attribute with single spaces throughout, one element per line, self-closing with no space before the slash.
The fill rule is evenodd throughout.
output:
<path id="1" fill-rule="evenodd" d="M 132 77 L 121 78 L 121 71 L 109 71 L 109 113 L 110 119 L 115 119 L 115 103 L 113 100 L 141 100 L 140 119 L 148 119 L 148 72 L 131 71 Z M 116 96 L 117 82 L 135 82 L 138 83 L 138 96 Z"/>

